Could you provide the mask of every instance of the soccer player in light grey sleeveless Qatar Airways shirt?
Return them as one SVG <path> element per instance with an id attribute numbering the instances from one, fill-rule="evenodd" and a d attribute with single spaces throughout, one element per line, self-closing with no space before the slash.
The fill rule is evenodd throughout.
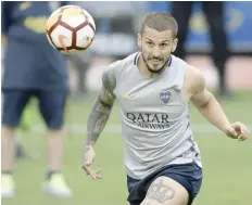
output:
<path id="1" fill-rule="evenodd" d="M 189 102 L 228 137 L 248 138 L 243 124 L 229 123 L 203 75 L 171 54 L 177 47 L 177 31 L 169 14 L 147 15 L 138 35 L 140 51 L 104 71 L 88 119 L 83 168 L 97 180 L 101 176 L 91 166 L 93 146 L 118 101 L 130 205 L 187 205 L 199 193 L 202 163 Z"/>

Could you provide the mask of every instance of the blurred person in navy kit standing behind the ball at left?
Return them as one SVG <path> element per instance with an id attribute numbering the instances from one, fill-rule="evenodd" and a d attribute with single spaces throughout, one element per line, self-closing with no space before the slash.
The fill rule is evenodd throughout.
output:
<path id="1" fill-rule="evenodd" d="M 1 35 L 5 41 L 2 81 L 1 196 L 14 196 L 15 129 L 32 97 L 39 102 L 48 128 L 45 192 L 71 196 L 62 175 L 64 110 L 68 94 L 65 59 L 46 37 L 50 2 L 3 1 Z M 30 170 L 33 171 L 33 170 Z"/>

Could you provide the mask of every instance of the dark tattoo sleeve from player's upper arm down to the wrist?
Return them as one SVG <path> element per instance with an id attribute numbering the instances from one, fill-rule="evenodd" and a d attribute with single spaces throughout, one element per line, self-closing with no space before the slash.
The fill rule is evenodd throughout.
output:
<path id="1" fill-rule="evenodd" d="M 86 145 L 93 145 L 106 125 L 110 117 L 115 95 L 116 86 L 114 69 L 108 69 L 102 75 L 102 90 L 98 95 L 88 118 Z"/>

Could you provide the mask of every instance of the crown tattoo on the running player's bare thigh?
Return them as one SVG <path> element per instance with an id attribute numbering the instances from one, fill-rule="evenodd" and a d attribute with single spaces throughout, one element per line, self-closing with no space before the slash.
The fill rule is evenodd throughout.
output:
<path id="1" fill-rule="evenodd" d="M 159 203 L 164 203 L 167 200 L 172 200 L 175 195 L 175 190 L 167 184 L 164 184 L 163 179 L 152 183 L 148 190 L 147 197 L 155 200 Z"/>

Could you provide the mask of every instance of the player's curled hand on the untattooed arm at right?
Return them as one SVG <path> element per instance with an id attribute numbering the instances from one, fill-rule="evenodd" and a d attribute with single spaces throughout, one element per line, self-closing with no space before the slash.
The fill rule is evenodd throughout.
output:
<path id="1" fill-rule="evenodd" d="M 239 121 L 230 124 L 224 129 L 224 131 L 228 137 L 238 139 L 239 141 L 244 141 L 249 137 L 248 128 Z"/>

